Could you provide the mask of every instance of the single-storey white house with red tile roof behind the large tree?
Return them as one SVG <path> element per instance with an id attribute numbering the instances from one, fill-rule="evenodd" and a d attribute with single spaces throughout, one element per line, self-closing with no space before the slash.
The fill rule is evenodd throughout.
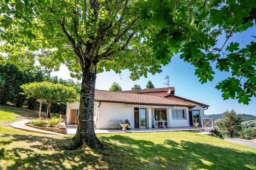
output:
<path id="1" fill-rule="evenodd" d="M 128 119 L 133 128 L 187 127 L 202 124 L 209 105 L 175 95 L 174 87 L 126 91 L 95 90 L 96 129 L 112 129 L 114 120 Z M 77 124 L 79 102 L 68 103 L 66 124 Z M 114 127 L 119 128 L 119 127 Z"/>

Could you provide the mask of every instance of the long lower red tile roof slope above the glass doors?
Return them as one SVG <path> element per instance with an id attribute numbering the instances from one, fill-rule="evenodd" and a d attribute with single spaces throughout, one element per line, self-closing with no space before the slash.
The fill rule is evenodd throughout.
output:
<path id="1" fill-rule="evenodd" d="M 107 90 L 95 90 L 95 101 L 160 106 L 195 107 L 191 103 L 167 99 L 156 95 L 136 94 Z"/>

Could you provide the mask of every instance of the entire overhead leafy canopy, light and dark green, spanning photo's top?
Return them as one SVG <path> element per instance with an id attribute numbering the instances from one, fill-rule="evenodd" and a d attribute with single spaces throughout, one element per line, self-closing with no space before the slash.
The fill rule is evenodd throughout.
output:
<path id="1" fill-rule="evenodd" d="M 244 48 L 237 42 L 216 44 L 220 34 L 228 40 L 254 26 L 255 0 L 2 0 L 0 4 L 0 37 L 5 42 L 1 51 L 13 63 L 32 67 L 37 60 L 49 71 L 65 64 L 71 76 L 80 77 L 77 63 L 97 47 L 98 72 L 129 69 L 135 80 L 148 72 L 159 73 L 160 64 L 180 53 L 195 66 L 201 83 L 213 80 L 214 67 L 232 73 L 217 85 L 224 99 L 248 104 L 256 96 L 255 41 Z"/>

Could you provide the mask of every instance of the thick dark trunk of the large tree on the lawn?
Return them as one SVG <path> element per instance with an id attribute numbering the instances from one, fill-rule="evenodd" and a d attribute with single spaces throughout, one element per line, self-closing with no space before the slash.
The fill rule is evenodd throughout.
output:
<path id="1" fill-rule="evenodd" d="M 96 69 L 83 69 L 82 87 L 80 93 L 79 124 L 73 138 L 75 148 L 86 144 L 90 148 L 101 148 L 102 143 L 97 139 L 94 131 L 94 96 L 96 83 Z"/>

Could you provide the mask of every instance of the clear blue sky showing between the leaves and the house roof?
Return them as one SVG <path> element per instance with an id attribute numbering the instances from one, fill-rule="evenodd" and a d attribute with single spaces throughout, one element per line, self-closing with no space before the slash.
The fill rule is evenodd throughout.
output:
<path id="1" fill-rule="evenodd" d="M 256 27 L 249 28 L 242 33 L 234 34 L 228 41 L 240 43 L 240 47 L 243 48 L 251 41 L 255 41 L 251 35 L 256 35 Z M 225 41 L 225 35 L 218 37 L 218 47 L 222 47 Z M 225 47 L 224 47 L 225 49 Z M 215 68 L 215 65 L 213 65 Z M 69 71 L 65 66 L 61 66 L 60 71 L 52 73 L 52 76 L 58 76 L 62 79 L 70 79 Z M 210 105 L 209 109 L 205 111 L 205 114 L 219 114 L 226 110 L 234 109 L 237 113 L 246 113 L 256 115 L 256 98 L 254 97 L 249 105 L 239 104 L 237 100 L 228 99 L 223 100 L 221 91 L 217 90 L 215 86 L 230 76 L 230 73 L 220 72 L 215 70 L 215 78 L 212 82 L 201 84 L 198 82 L 199 78 L 194 75 L 194 67 L 189 63 L 183 61 L 178 55 L 172 57 L 171 62 L 162 67 L 162 73 L 156 75 L 148 75 L 148 78 L 140 78 L 137 81 L 132 81 L 128 78 L 129 71 L 125 70 L 121 75 L 117 75 L 114 72 L 104 72 L 97 75 L 96 88 L 108 90 L 113 82 L 117 82 L 122 86 L 123 90 L 130 89 L 134 84 L 140 85 L 145 88 L 149 80 L 158 87 L 166 87 L 164 85 L 165 75 L 170 76 L 170 86 L 175 87 L 175 94 L 191 100 L 195 100 L 201 103 Z"/>

